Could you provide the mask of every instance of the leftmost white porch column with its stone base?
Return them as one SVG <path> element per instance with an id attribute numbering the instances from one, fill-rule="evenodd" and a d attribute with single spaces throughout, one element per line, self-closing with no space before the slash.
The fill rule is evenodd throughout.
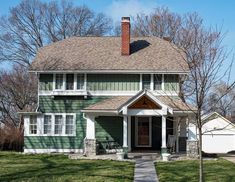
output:
<path id="1" fill-rule="evenodd" d="M 95 139 L 95 116 L 87 115 L 86 117 L 86 138 L 84 140 L 84 153 L 86 156 L 96 155 L 96 139 Z"/>

